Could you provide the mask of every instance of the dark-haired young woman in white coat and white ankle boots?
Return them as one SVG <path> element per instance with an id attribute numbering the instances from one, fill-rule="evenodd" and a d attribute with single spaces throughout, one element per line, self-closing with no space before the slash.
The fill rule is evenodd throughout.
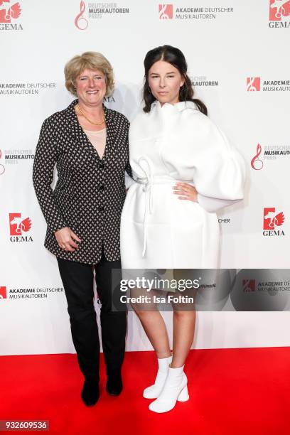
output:
<path id="1" fill-rule="evenodd" d="M 220 232 L 215 212 L 243 198 L 244 162 L 207 117 L 205 104 L 193 97 L 181 50 L 154 48 L 144 67 L 145 106 L 129 129 L 136 183 L 122 211 L 122 268 L 216 268 Z M 193 343 L 195 310 L 173 304 L 171 357 L 163 317 L 154 304 L 151 308 L 134 304 L 159 364 L 144 397 L 156 399 L 151 411 L 167 412 L 176 400 L 189 398 L 183 367 Z"/>

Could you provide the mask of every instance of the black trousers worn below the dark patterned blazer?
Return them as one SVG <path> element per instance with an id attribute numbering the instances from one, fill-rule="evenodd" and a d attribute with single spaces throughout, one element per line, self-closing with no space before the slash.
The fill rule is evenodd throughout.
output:
<path id="1" fill-rule="evenodd" d="M 99 377 L 100 342 L 93 304 L 93 267 L 90 264 L 58 258 L 60 276 L 68 301 L 70 328 L 77 351 L 80 370 L 85 377 Z M 120 370 L 124 360 L 127 313 L 112 312 L 112 269 L 121 269 L 121 262 L 104 258 L 95 264 L 97 294 L 102 303 L 102 347 L 107 374 Z M 121 274 L 120 274 L 121 276 Z M 120 278 L 121 279 L 121 278 Z"/>

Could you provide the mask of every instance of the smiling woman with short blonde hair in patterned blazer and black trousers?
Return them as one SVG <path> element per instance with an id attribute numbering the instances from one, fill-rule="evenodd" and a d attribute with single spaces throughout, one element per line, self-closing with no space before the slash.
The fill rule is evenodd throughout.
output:
<path id="1" fill-rule="evenodd" d="M 36 147 L 33 184 L 48 225 L 45 247 L 57 257 L 80 370 L 82 400 L 99 398 L 100 343 L 93 303 L 95 280 L 109 394 L 122 391 L 127 318 L 112 312 L 112 269 L 120 269 L 119 227 L 130 175 L 123 114 L 104 106 L 114 90 L 113 70 L 100 53 L 77 55 L 65 65 L 65 85 L 77 97 L 45 119 Z M 58 182 L 52 190 L 54 168 Z"/>

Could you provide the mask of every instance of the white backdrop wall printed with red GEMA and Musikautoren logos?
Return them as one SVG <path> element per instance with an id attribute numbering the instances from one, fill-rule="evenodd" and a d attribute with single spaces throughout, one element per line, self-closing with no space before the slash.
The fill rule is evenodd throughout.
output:
<path id="1" fill-rule="evenodd" d="M 43 120 L 73 100 L 65 63 L 84 51 L 103 53 L 116 81 L 107 107 L 132 119 L 144 56 L 163 44 L 183 50 L 196 97 L 247 166 L 245 200 L 218 216 L 220 267 L 252 269 L 243 272 L 247 303 L 199 312 L 193 347 L 290 345 L 287 305 L 257 311 L 249 303 L 271 294 L 275 282 L 273 298 L 290 294 L 289 37 L 290 0 L 0 0 L 1 355 L 74 352 L 31 180 Z M 257 269 L 283 273 L 273 283 Z M 97 297 L 95 306 L 98 313 Z M 163 314 L 171 333 L 172 313 Z M 151 349 L 134 313 L 128 321 L 127 350 Z"/>

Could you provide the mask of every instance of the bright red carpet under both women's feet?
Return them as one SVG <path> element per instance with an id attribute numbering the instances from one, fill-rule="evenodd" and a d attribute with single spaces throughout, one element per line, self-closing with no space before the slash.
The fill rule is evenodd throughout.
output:
<path id="1" fill-rule="evenodd" d="M 290 348 L 193 350 L 186 364 L 190 399 L 166 414 L 141 397 L 156 372 L 153 352 L 130 352 L 124 391 L 104 391 L 87 408 L 75 355 L 0 357 L 0 419 L 50 421 L 48 434 L 290 434 Z M 26 431 L 28 434 L 29 432 Z"/>

